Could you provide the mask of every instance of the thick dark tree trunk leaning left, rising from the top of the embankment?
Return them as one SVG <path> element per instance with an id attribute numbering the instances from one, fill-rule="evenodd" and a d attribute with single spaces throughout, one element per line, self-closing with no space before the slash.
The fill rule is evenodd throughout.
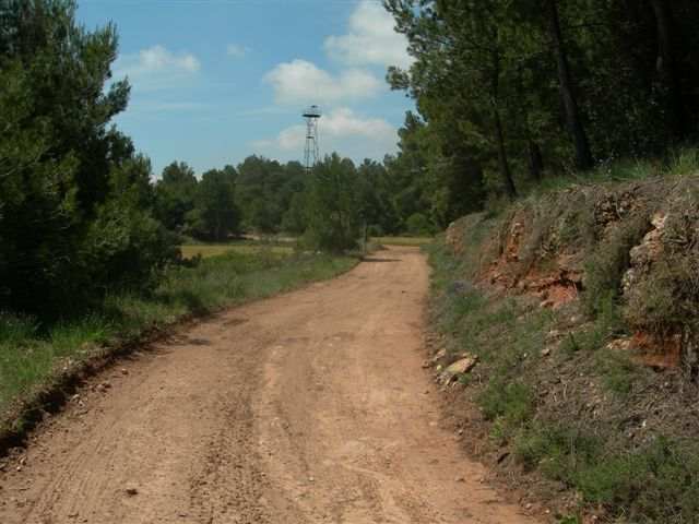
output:
<path id="1" fill-rule="evenodd" d="M 566 122 L 568 130 L 576 146 L 576 166 L 578 169 L 588 170 L 592 168 L 594 160 L 590 152 L 590 142 L 585 134 L 584 127 L 580 117 L 580 108 L 573 93 L 572 75 L 568 64 L 568 56 L 566 55 L 566 46 L 560 31 L 560 20 L 558 19 L 557 0 L 546 0 L 548 8 L 548 24 L 550 36 L 556 53 L 558 66 L 558 85 L 560 88 L 560 97 L 566 109 Z"/>

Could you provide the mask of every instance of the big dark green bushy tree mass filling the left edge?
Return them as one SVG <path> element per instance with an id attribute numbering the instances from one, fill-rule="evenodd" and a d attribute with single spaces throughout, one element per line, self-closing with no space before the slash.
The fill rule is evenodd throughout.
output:
<path id="1" fill-rule="evenodd" d="M 115 27 L 86 31 L 72 0 L 0 1 L 0 312 L 145 289 L 175 257 L 151 164 L 109 124 L 129 98 L 116 55 Z"/>

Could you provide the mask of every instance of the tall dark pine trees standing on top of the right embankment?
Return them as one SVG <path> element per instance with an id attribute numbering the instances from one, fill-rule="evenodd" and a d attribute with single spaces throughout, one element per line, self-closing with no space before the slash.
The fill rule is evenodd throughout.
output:
<path id="1" fill-rule="evenodd" d="M 395 163 L 446 226 L 549 172 L 696 139 L 696 0 L 384 0 L 414 57 Z"/>

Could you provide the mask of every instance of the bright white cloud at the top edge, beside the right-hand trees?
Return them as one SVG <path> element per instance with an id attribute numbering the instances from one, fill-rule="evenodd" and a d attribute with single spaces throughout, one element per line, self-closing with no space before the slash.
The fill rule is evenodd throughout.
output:
<path id="1" fill-rule="evenodd" d="M 352 66 L 407 68 L 413 62 L 407 40 L 395 32 L 394 25 L 393 16 L 379 2 L 362 0 L 350 16 L 347 34 L 328 37 L 325 51 Z"/>

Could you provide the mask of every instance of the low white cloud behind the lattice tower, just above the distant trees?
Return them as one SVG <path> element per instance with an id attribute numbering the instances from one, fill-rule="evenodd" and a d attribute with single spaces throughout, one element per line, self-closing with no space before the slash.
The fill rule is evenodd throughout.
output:
<path id="1" fill-rule="evenodd" d="M 320 148 L 324 153 L 337 151 L 356 159 L 382 158 L 395 151 L 398 130 L 380 118 L 363 118 L 352 109 L 342 107 L 321 117 L 318 124 Z M 300 157 L 306 141 L 306 127 L 292 126 L 282 130 L 273 140 L 252 143 L 258 153 L 265 156 L 281 154 Z"/>

